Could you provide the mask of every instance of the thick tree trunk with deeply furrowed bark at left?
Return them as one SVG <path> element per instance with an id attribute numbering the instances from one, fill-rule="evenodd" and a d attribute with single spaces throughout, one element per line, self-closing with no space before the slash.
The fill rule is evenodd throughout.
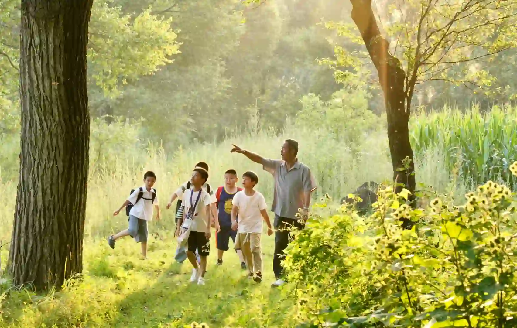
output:
<path id="1" fill-rule="evenodd" d="M 16 285 L 59 288 L 82 271 L 92 3 L 22 0 L 20 182 L 9 253 Z"/>

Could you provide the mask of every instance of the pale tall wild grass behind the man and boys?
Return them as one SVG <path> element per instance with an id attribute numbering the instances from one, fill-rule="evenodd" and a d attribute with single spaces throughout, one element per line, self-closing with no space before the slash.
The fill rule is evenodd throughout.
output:
<path id="1" fill-rule="evenodd" d="M 86 203 L 85 240 L 95 240 L 109 233 L 123 229 L 127 217 L 112 213 L 127 198 L 129 191 L 140 186 L 143 173 L 153 170 L 157 175 L 156 189 L 162 208 L 163 220 L 156 223 L 160 228 L 172 229 L 172 210 L 164 207 L 170 195 L 183 182 L 190 178 L 192 168 L 199 161 L 210 165 L 208 182 L 213 188 L 223 184 L 224 171 L 229 168 L 238 174 L 254 170 L 260 177 L 257 189 L 261 191 L 268 204 L 271 203 L 273 180 L 258 164 L 250 162 L 244 155 L 231 154 L 231 144 L 259 153 L 268 158 L 280 158 L 280 147 L 285 138 L 295 138 L 300 144 L 299 160 L 311 168 L 318 184 L 313 199 L 329 194 L 339 200 L 353 192 L 365 181 L 389 181 L 392 176 L 387 138 L 384 131 L 369 135 L 359 145 L 360 151 L 329 136 L 324 131 L 307 131 L 287 127 L 281 135 L 269 132 L 252 132 L 247 135 L 228 137 L 220 144 L 197 144 L 182 148 L 173 154 L 165 154 L 159 147 L 150 145 L 139 154 L 139 162 L 134 166 L 133 158 L 124 153 L 110 158 L 109 169 L 90 169 Z M 143 160 L 142 160 L 143 158 Z M 446 190 L 450 181 L 444 169 L 446 163 L 439 150 L 429 150 L 417 160 L 419 181 L 432 185 L 437 190 Z M 10 240 L 17 183 L 14 180 L 0 180 L 3 202 L 0 205 L 2 225 L 0 239 Z M 6 251 L 6 248 L 3 249 Z M 5 253 L 2 261 L 5 264 Z M 4 265 L 5 268 L 5 265 Z"/>

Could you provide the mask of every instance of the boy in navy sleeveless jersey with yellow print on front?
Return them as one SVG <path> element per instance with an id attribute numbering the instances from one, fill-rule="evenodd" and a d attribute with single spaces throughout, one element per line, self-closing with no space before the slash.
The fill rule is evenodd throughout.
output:
<path id="1" fill-rule="evenodd" d="M 236 186 L 237 183 L 237 172 L 233 169 L 227 170 L 224 174 L 224 185 L 220 186 L 217 189 L 216 193 L 216 206 L 217 206 L 217 215 L 219 218 L 219 226 L 221 230 L 217 232 L 216 235 L 216 245 L 217 245 L 217 265 L 223 264 L 223 254 L 225 251 L 230 249 L 229 242 L 230 238 L 235 243 L 235 237 L 237 236 L 237 231 L 232 230 L 232 199 L 233 196 L 238 191 L 242 189 Z M 239 256 L 240 266 L 242 269 L 246 269 L 246 264 L 244 262 L 244 257 L 242 257 L 242 252 L 240 249 L 236 250 L 237 255 Z"/>

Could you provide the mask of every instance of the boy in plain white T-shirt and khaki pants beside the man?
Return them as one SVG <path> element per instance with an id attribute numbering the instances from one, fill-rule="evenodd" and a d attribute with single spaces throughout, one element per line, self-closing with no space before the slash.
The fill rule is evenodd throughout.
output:
<path id="1" fill-rule="evenodd" d="M 232 229 L 237 230 L 235 249 L 242 249 L 248 267 L 248 277 L 253 278 L 257 283 L 261 283 L 262 219 L 266 221 L 268 236 L 273 234 L 273 229 L 266 210 L 266 200 L 260 192 L 254 190 L 257 183 L 258 177 L 254 172 L 247 171 L 242 175 L 244 190 L 239 191 L 233 197 Z M 237 215 L 239 216 L 238 223 Z"/>

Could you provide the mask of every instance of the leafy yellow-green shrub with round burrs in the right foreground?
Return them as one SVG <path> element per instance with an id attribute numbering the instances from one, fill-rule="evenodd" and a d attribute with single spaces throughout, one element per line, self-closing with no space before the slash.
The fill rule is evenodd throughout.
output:
<path id="1" fill-rule="evenodd" d="M 305 326 L 517 325 L 517 198 L 505 185 L 489 181 L 462 206 L 442 195 L 413 209 L 391 186 L 378 195 L 371 216 L 312 218 L 288 247 Z M 418 224 L 403 230 L 402 218 Z"/>

